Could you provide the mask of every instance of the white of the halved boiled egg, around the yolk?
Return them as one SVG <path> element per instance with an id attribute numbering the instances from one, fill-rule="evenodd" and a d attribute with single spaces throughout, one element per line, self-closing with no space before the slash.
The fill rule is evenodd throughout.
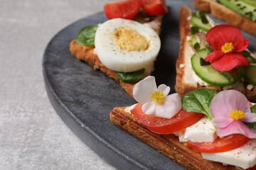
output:
<path id="1" fill-rule="evenodd" d="M 113 38 L 114 30 L 120 27 L 137 30 L 148 40 L 149 47 L 141 51 L 122 50 Z M 149 67 L 156 59 L 160 47 L 159 35 L 137 21 L 114 18 L 102 23 L 95 34 L 95 49 L 100 62 L 116 72 L 135 72 Z"/>

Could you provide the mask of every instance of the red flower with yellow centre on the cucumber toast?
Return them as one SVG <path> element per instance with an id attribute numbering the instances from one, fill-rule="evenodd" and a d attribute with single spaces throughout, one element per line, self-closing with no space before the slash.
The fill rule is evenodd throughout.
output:
<path id="1" fill-rule="evenodd" d="M 218 25 L 206 34 L 206 41 L 213 52 L 206 57 L 206 62 L 219 72 L 228 72 L 237 66 L 248 66 L 250 62 L 241 54 L 250 40 L 245 40 L 235 26 Z"/>

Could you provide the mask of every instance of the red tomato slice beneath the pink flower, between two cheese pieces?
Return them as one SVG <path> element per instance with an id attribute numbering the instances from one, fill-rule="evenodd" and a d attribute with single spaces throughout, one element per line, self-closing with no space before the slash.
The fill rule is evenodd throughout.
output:
<path id="1" fill-rule="evenodd" d="M 203 152 L 203 153 L 218 153 L 218 152 L 226 152 L 232 149 L 242 147 L 250 139 L 245 135 L 241 134 L 234 134 L 228 135 L 227 137 L 217 138 L 213 142 L 191 142 L 188 141 L 188 147 L 191 147 L 196 152 Z"/>

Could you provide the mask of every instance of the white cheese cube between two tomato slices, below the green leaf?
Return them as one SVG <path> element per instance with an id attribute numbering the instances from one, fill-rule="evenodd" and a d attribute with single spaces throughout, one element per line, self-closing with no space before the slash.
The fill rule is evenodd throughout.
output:
<path id="1" fill-rule="evenodd" d="M 213 142 L 216 138 L 216 129 L 211 121 L 204 117 L 194 125 L 186 128 L 184 140 L 192 142 Z"/>

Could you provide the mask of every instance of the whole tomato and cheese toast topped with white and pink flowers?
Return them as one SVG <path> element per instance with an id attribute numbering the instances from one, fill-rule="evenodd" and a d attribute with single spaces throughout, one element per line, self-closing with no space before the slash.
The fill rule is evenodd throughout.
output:
<path id="1" fill-rule="evenodd" d="M 110 120 L 185 169 L 256 168 L 256 107 L 242 93 L 169 91 L 146 77 L 134 86 L 138 103 L 114 108 Z"/>

